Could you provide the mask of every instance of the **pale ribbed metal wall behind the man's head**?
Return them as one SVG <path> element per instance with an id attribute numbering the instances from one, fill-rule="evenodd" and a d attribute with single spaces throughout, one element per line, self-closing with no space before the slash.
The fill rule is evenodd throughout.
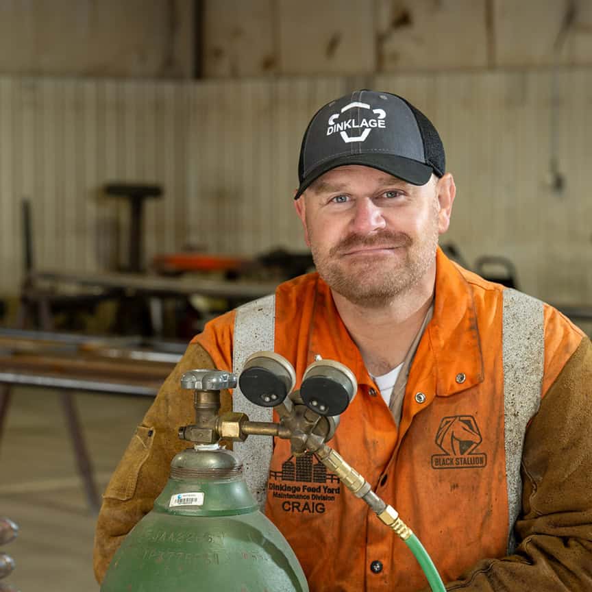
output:
<path id="1" fill-rule="evenodd" d="M 561 71 L 554 139 L 563 193 L 547 184 L 552 73 L 447 73 L 163 84 L 0 77 L 0 291 L 21 281 L 20 201 L 32 201 L 38 268 L 94 271 L 127 252 L 127 208 L 109 181 L 157 182 L 146 255 L 204 246 L 301 249 L 291 195 L 301 134 L 352 88 L 391 90 L 432 119 L 458 196 L 452 229 L 469 262 L 510 256 L 521 287 L 592 297 L 592 71 Z M 118 240 L 119 236 L 119 240 Z"/>

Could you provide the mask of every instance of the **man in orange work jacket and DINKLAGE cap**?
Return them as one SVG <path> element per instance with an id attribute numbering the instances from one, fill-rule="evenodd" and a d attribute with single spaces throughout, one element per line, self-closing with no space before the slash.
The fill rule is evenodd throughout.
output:
<path id="1" fill-rule="evenodd" d="M 317 355 L 356 375 L 331 445 L 399 511 L 448 590 L 592 589 L 589 339 L 438 249 L 454 180 L 438 133 L 401 97 L 362 90 L 321 108 L 299 180 L 318 273 L 277 288 L 273 343 L 297 386 Z M 114 473 L 97 524 L 99 580 L 183 447 L 177 426 L 193 413 L 180 375 L 232 369 L 236 317 L 193 340 Z M 423 589 L 404 543 L 330 476 L 314 480 L 315 467 L 275 441 L 265 507 L 311 591 Z M 298 498 L 275 495 L 282 480 Z M 306 493 L 312 481 L 317 495 Z"/>

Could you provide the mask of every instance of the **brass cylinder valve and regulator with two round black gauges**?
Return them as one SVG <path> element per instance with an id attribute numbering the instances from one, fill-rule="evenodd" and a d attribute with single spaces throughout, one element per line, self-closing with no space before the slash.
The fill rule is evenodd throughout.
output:
<path id="1" fill-rule="evenodd" d="M 225 388 L 240 390 L 251 402 L 273 407 L 280 421 L 249 421 L 243 413 L 220 413 Z M 358 385 L 349 369 L 332 360 L 317 360 L 306 369 L 301 389 L 294 391 L 296 373 L 288 360 L 273 351 L 258 351 L 247 358 L 238 380 L 221 370 L 190 370 L 181 385 L 193 391 L 195 423 L 179 428 L 179 437 L 195 445 L 221 439 L 244 441 L 247 436 L 277 436 L 291 441 L 293 454 L 319 449 L 338 425 Z"/>

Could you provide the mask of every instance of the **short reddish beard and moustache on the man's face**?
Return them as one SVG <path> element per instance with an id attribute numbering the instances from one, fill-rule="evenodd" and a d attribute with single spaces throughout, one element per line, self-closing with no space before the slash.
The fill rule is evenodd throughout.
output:
<path id="1" fill-rule="evenodd" d="M 311 236 L 310 248 L 319 275 L 332 290 L 352 304 L 380 308 L 421 280 L 436 257 L 438 237 L 434 216 L 417 240 L 404 232 L 383 230 L 371 236 L 349 234 L 329 251 L 314 245 Z M 346 253 L 356 247 L 394 247 L 399 252 L 350 259 Z"/>

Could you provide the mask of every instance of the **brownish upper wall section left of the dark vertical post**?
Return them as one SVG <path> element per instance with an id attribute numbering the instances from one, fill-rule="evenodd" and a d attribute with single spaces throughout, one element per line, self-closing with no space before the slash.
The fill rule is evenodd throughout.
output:
<path id="1" fill-rule="evenodd" d="M 0 72 L 190 78 L 193 0 L 2 0 Z"/>

